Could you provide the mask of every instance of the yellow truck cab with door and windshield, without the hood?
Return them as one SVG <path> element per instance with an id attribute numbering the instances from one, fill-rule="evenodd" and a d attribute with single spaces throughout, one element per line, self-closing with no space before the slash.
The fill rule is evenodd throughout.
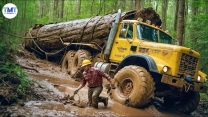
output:
<path id="1" fill-rule="evenodd" d="M 123 20 L 115 37 L 110 60 L 120 62 L 129 54 L 144 53 L 143 42 L 172 44 L 172 37 L 166 32 L 137 20 Z"/>

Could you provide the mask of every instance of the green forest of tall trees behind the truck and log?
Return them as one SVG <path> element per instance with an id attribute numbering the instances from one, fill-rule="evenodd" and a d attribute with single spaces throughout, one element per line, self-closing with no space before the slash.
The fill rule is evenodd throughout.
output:
<path id="1" fill-rule="evenodd" d="M 163 30 L 168 30 L 180 45 L 200 53 L 200 69 L 208 74 L 207 0 L 1 0 L 0 7 L 6 3 L 18 8 L 13 19 L 0 15 L 0 67 L 9 73 L 22 73 L 12 59 L 23 47 L 25 33 L 35 24 L 103 16 L 118 9 L 127 12 L 152 7 L 160 15 Z"/>

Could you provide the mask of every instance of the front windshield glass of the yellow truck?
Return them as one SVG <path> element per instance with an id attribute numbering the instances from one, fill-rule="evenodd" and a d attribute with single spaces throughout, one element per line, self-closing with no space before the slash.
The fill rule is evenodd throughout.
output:
<path id="1" fill-rule="evenodd" d="M 158 36 L 158 32 L 160 33 L 160 36 Z M 137 25 L 137 38 L 151 42 L 160 42 L 166 44 L 172 43 L 171 36 L 165 34 L 162 31 L 158 31 L 158 29 L 143 24 Z"/>

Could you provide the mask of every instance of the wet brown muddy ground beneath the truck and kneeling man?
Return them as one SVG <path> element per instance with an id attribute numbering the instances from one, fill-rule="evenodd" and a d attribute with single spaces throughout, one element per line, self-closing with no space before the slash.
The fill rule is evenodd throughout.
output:
<path id="1" fill-rule="evenodd" d="M 155 104 L 149 104 L 145 108 L 132 108 L 121 105 L 112 99 L 104 107 L 99 104 L 99 109 L 87 107 L 87 87 L 81 89 L 74 100 L 69 100 L 73 91 L 80 82 L 72 79 L 68 74 L 61 71 L 60 65 L 36 58 L 34 54 L 21 51 L 16 57 L 17 62 L 25 67 L 28 77 L 35 82 L 32 88 L 36 98 L 4 107 L 11 116 L 205 116 L 207 115 L 207 101 L 202 100 L 196 111 L 191 114 L 182 114 L 160 108 Z M 37 71 L 38 72 L 37 72 Z M 108 96 L 104 88 L 101 95 Z M 32 94 L 31 94 L 32 95 Z"/>

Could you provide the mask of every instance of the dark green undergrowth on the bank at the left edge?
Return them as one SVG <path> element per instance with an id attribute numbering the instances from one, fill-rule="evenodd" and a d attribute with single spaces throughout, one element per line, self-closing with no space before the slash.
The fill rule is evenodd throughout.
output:
<path id="1" fill-rule="evenodd" d="M 2 35 L 0 38 L 0 105 L 23 99 L 31 81 L 15 60 L 19 49 L 17 39 Z"/>

